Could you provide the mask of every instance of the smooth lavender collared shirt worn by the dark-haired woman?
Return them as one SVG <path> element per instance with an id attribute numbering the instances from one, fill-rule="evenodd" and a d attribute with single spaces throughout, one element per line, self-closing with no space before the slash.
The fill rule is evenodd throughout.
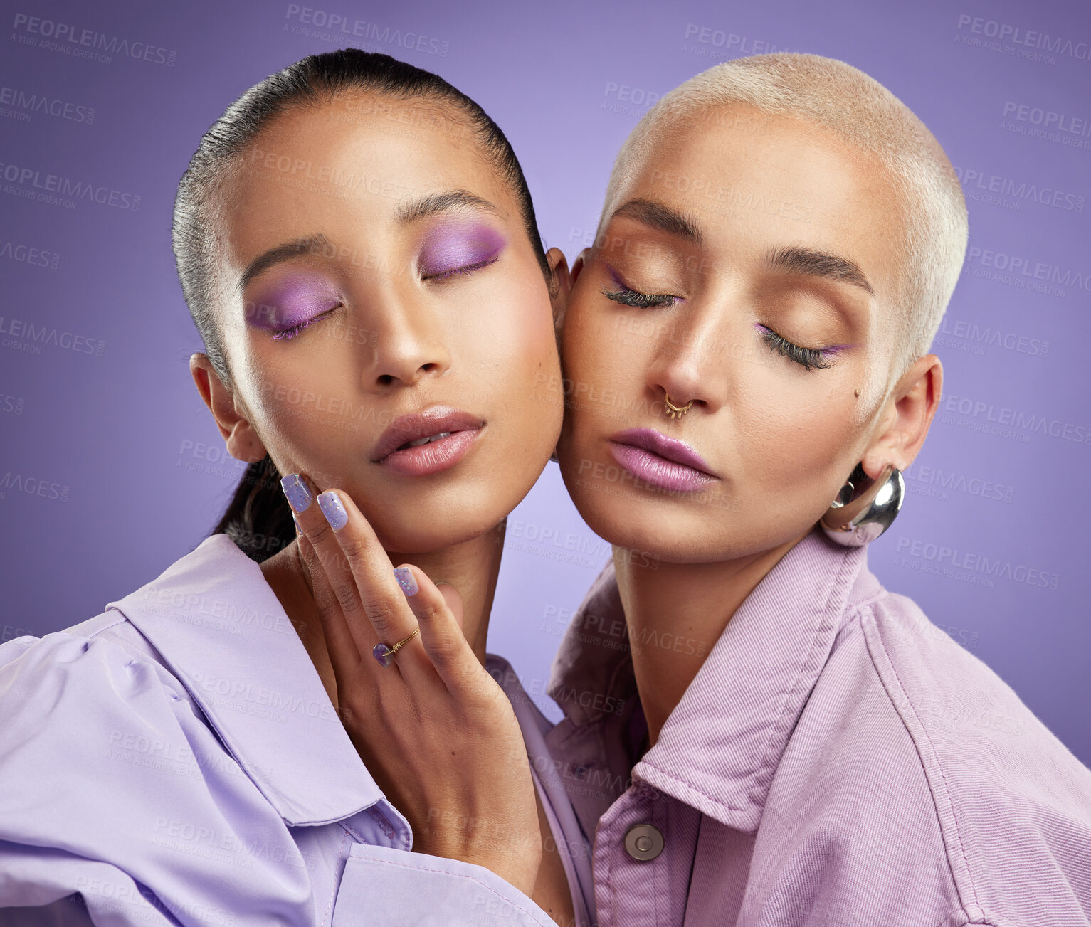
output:
<path id="1" fill-rule="evenodd" d="M 590 859 L 511 699 L 589 920 Z M 260 566 L 215 534 L 103 614 L 0 646 L 0 925 L 554 922 L 485 869 L 411 853 Z"/>

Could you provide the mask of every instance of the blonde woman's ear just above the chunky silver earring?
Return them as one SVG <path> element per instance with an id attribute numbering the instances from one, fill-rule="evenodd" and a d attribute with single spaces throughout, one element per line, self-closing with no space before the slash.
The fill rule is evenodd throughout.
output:
<path id="1" fill-rule="evenodd" d="M 898 381 L 877 437 L 861 458 L 868 477 L 874 480 L 886 464 L 904 470 L 913 462 L 939 408 L 943 385 L 944 365 L 935 354 L 920 358 Z"/>

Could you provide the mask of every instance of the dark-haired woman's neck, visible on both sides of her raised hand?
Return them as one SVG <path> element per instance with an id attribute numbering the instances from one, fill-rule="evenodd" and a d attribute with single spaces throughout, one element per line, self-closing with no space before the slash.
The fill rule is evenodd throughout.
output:
<path id="1" fill-rule="evenodd" d="M 403 563 L 420 568 L 433 582 L 449 582 L 463 600 L 463 634 L 478 660 L 484 664 L 489 615 L 496 592 L 500 561 L 504 551 L 506 520 L 492 531 L 428 553 L 387 551 L 391 569 Z M 337 706 L 337 686 L 333 664 L 322 634 L 322 621 L 310 576 L 292 541 L 261 564 L 265 581 L 276 593 L 288 618 L 299 633 L 329 699 Z"/>

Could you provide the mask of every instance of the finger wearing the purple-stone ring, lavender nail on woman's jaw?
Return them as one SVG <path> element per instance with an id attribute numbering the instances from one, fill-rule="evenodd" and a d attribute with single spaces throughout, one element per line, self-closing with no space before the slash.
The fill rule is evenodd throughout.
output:
<path id="1" fill-rule="evenodd" d="M 389 556 L 348 493 L 326 490 L 317 503 L 340 552 L 333 571 L 327 569 L 337 601 L 350 626 L 362 618 L 370 624 L 377 658 L 379 643 L 394 647 L 417 629 L 417 621 L 394 578 Z"/>

